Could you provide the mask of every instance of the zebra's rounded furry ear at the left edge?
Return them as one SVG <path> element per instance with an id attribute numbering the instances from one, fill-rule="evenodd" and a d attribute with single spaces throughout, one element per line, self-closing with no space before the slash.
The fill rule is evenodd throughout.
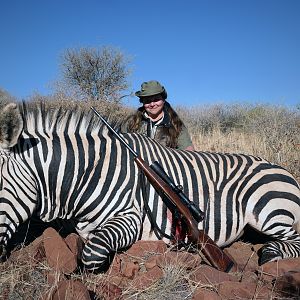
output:
<path id="1" fill-rule="evenodd" d="M 0 148 L 16 145 L 22 130 L 23 118 L 17 104 L 7 104 L 0 112 Z"/>

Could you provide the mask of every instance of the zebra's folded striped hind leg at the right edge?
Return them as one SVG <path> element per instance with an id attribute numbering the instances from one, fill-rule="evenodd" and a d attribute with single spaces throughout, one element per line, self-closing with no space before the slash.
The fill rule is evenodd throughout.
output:
<path id="1" fill-rule="evenodd" d="M 291 226 L 282 229 L 277 234 L 272 234 L 275 241 L 266 243 L 260 249 L 259 264 L 283 258 L 300 256 L 300 235 Z"/>

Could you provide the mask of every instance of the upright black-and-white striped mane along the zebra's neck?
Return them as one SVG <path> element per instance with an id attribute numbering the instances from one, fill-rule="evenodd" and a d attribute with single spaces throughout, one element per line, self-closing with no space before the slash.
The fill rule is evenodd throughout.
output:
<path id="1" fill-rule="evenodd" d="M 75 132 L 91 134 L 102 133 L 106 127 L 91 110 L 79 106 L 50 107 L 45 102 L 26 103 L 19 106 L 24 121 L 23 130 L 28 133 L 61 133 Z M 113 122 L 113 127 L 116 122 Z"/>

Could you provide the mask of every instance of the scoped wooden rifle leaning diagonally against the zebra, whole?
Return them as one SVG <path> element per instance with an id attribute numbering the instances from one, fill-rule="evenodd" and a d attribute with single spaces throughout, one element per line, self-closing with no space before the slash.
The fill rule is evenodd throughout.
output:
<path id="1" fill-rule="evenodd" d="M 125 141 L 125 139 L 113 129 L 110 124 L 92 106 L 91 109 L 117 137 L 117 139 L 134 156 L 134 161 L 143 171 L 151 185 L 159 192 L 162 192 L 171 203 L 177 207 L 184 217 L 188 227 L 188 239 L 197 246 L 202 245 L 202 253 L 209 263 L 223 272 L 229 272 L 236 266 L 235 262 L 203 231 L 198 229 L 198 223 L 203 220 L 204 213 L 201 212 L 192 201 L 182 192 L 180 187 L 176 187 L 171 178 L 164 172 L 158 162 L 149 166 Z M 196 222 L 197 220 L 197 222 Z"/>

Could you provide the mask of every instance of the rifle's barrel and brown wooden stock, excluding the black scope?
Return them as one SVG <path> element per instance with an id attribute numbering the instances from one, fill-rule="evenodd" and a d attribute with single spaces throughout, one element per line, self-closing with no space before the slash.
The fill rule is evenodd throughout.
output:
<path id="1" fill-rule="evenodd" d="M 190 242 L 195 243 L 209 263 L 223 272 L 229 272 L 231 269 L 236 268 L 234 261 L 222 251 L 222 249 L 203 231 L 198 229 L 198 224 L 192 216 L 189 208 L 182 203 L 179 196 L 172 190 L 172 188 L 162 179 L 154 170 L 128 145 L 124 138 L 117 133 L 110 124 L 98 113 L 98 111 L 91 107 L 94 113 L 102 120 L 110 131 L 114 133 L 116 138 L 129 150 L 134 156 L 134 160 L 138 167 L 144 172 L 150 184 L 162 193 L 175 205 L 180 214 L 185 218 L 188 227 L 188 239 Z"/>

